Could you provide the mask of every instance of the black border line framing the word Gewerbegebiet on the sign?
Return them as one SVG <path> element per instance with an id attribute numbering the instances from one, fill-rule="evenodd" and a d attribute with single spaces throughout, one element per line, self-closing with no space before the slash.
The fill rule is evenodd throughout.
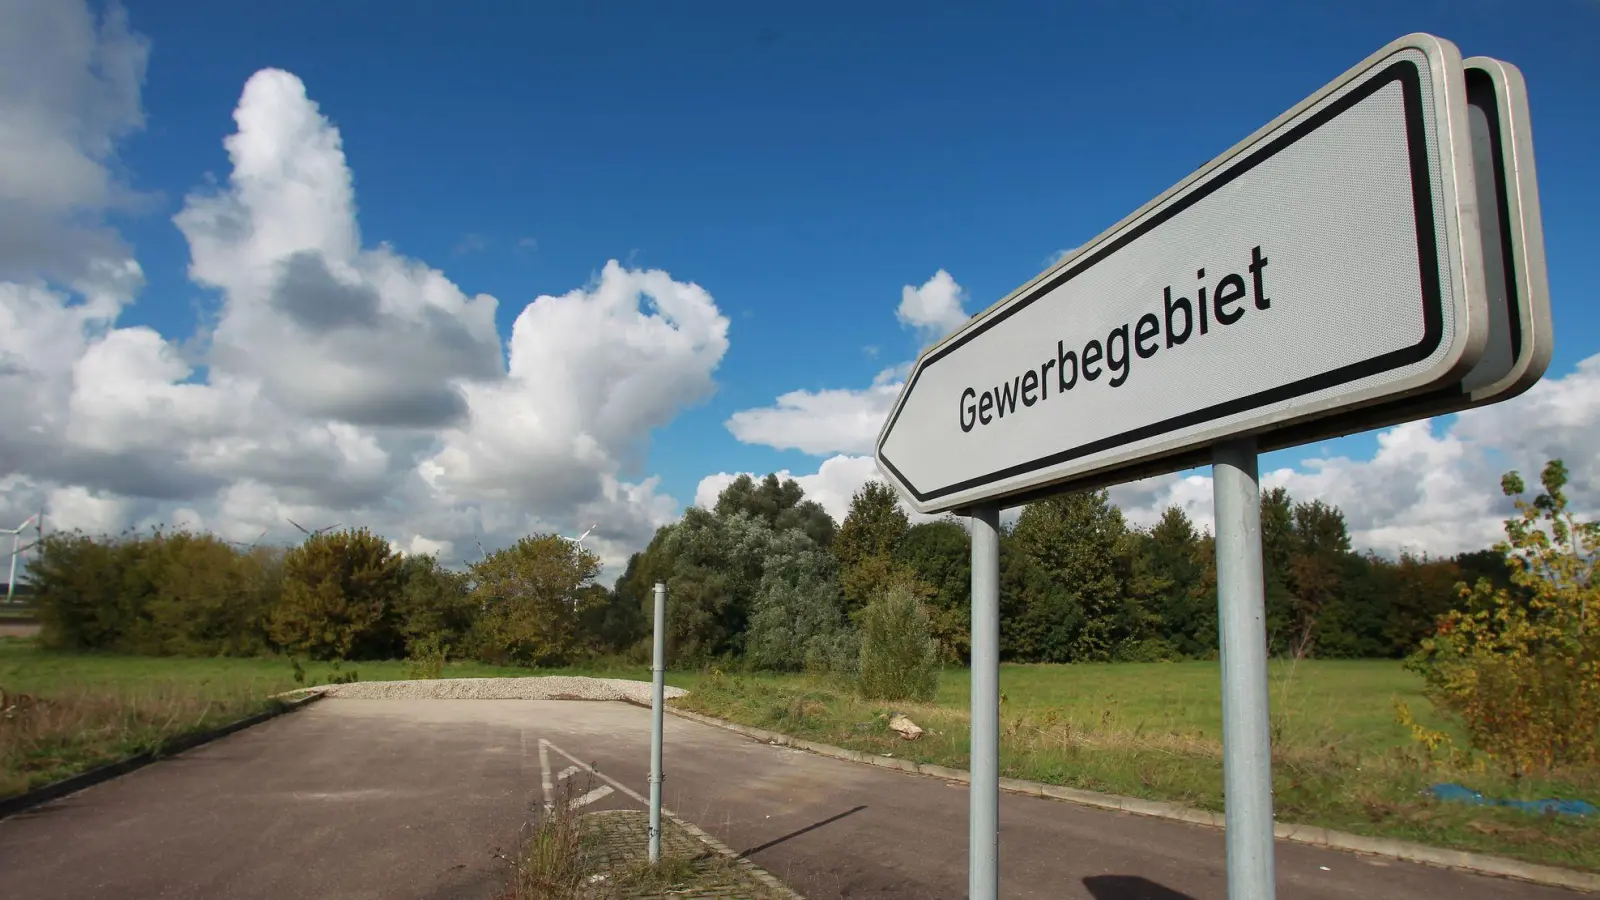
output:
<path id="1" fill-rule="evenodd" d="M 1258 391 L 1256 394 L 1250 394 L 1246 397 L 1235 397 L 1232 400 L 1227 400 L 1227 402 L 1222 402 L 1222 404 L 1216 404 L 1216 405 L 1211 405 L 1211 407 L 1206 407 L 1206 408 L 1202 408 L 1202 410 L 1192 410 L 1192 412 L 1187 412 L 1187 413 L 1182 413 L 1182 415 L 1178 415 L 1178 416 L 1173 416 L 1173 418 L 1168 418 L 1168 420 L 1163 420 L 1163 421 L 1158 421 L 1158 423 L 1139 426 L 1139 428 L 1125 431 L 1122 434 L 1114 434 L 1110 437 L 1102 437 L 1099 440 L 1091 440 L 1091 442 L 1082 444 L 1078 447 L 1072 447 L 1072 448 L 1067 448 L 1067 450 L 1059 450 L 1056 453 L 1050 453 L 1046 456 L 1040 456 L 1040 458 L 1030 460 L 1027 463 L 1018 463 L 1014 466 L 1008 466 L 1005 469 L 1000 469 L 1000 471 L 995 471 L 995 472 L 990 472 L 990 474 L 986 474 L 986 476 L 979 476 L 979 477 L 974 477 L 974 479 L 966 479 L 963 482 L 957 482 L 957 484 L 946 485 L 946 487 L 934 488 L 934 490 L 928 490 L 928 492 L 922 492 L 915 485 L 912 485 L 910 479 L 907 479 L 899 471 L 899 468 L 894 466 L 894 463 L 883 453 L 883 444 L 888 440 L 888 436 L 893 434 L 894 423 L 899 420 L 899 413 L 906 407 L 904 397 L 910 396 L 910 391 L 915 388 L 917 380 L 922 376 L 923 370 L 926 370 L 933 364 L 939 362 L 941 359 L 944 359 L 950 352 L 960 349 L 963 344 L 966 344 L 968 341 L 971 341 L 978 335 L 982 335 L 989 328 L 994 328 L 995 325 L 1005 322 L 1006 319 L 1010 319 L 1016 312 L 1026 309 L 1034 301 L 1043 298 L 1045 295 L 1048 295 L 1050 291 L 1056 290 L 1062 283 L 1066 283 L 1066 282 L 1072 280 L 1074 277 L 1077 277 L 1078 274 L 1088 271 L 1091 266 L 1101 263 L 1102 259 L 1106 259 L 1112 253 L 1117 253 L 1118 250 L 1122 250 L 1123 247 L 1126 247 L 1133 240 L 1138 240 L 1139 237 L 1142 237 L 1144 234 L 1147 234 L 1150 229 L 1154 229 L 1154 227 L 1166 223 L 1168 219 L 1171 219 L 1178 213 L 1181 213 L 1181 211 L 1187 210 L 1189 207 L 1198 203 L 1200 200 L 1210 197 L 1213 192 L 1216 192 L 1224 184 L 1229 184 L 1235 178 L 1238 178 L 1238 176 L 1245 175 L 1246 171 L 1256 168 L 1262 162 L 1272 159 L 1274 155 L 1277 155 L 1278 152 L 1282 152 L 1286 147 L 1293 146 L 1299 139 L 1306 138 L 1307 135 L 1310 135 L 1317 128 L 1320 128 L 1320 127 L 1326 125 L 1328 122 L 1338 119 L 1339 115 L 1342 115 L 1344 112 L 1350 110 L 1352 107 L 1355 107 L 1357 104 L 1360 104 L 1366 98 L 1373 96 L 1374 93 L 1381 91 L 1382 88 L 1386 88 L 1386 86 L 1389 86 L 1389 85 L 1392 85 L 1395 82 L 1398 82 L 1400 86 L 1402 86 L 1400 93 L 1402 93 L 1403 107 L 1405 107 L 1406 151 L 1408 151 L 1410 162 L 1411 162 L 1411 207 L 1413 207 L 1414 219 L 1416 219 L 1418 267 L 1419 267 L 1419 275 L 1421 275 L 1421 283 L 1422 283 L 1422 296 L 1421 296 L 1421 301 L 1422 301 L 1422 340 L 1421 341 L 1418 341 L 1416 344 L 1413 344 L 1410 348 L 1400 348 L 1397 351 L 1389 351 L 1386 354 L 1379 354 L 1379 356 L 1371 357 L 1371 359 L 1365 359 L 1365 360 L 1360 360 L 1360 362 L 1342 365 L 1342 367 L 1334 368 L 1331 372 L 1323 372 L 1323 373 L 1318 373 L 1318 375 L 1312 375 L 1309 378 L 1301 378 L 1299 381 L 1291 381 L 1288 384 L 1278 384 L 1275 388 L 1267 388 L 1266 391 Z M 1216 178 L 1211 178 L 1210 181 L 1206 181 L 1206 183 L 1194 187 L 1192 191 L 1189 191 L 1187 194 L 1184 194 L 1182 197 L 1179 197 L 1178 200 L 1174 200 L 1173 203 L 1166 205 L 1166 207 L 1163 207 L 1160 210 L 1155 210 L 1152 215 L 1146 216 L 1144 221 L 1141 221 L 1134 227 L 1128 229 L 1126 232 L 1123 232 L 1122 235 L 1118 235 L 1115 240 L 1106 243 L 1104 247 L 1101 247 L 1099 250 L 1096 250 L 1093 255 L 1080 259 L 1072 267 L 1064 269 L 1062 272 L 1058 272 L 1048 282 L 1043 282 L 1038 287 L 1035 287 L 1032 290 L 1032 293 L 1029 293 L 1027 296 L 1024 296 L 1018 303 L 1013 303 L 1011 306 L 1002 309 L 995 315 L 990 315 L 990 317 L 984 319 L 976 328 L 966 331 L 965 335 L 958 336 L 957 340 L 954 340 L 954 341 L 947 343 L 946 346 L 939 348 L 933 356 L 930 356 L 926 360 L 923 360 L 917 367 L 917 370 L 912 373 L 910 381 L 906 384 L 906 389 L 902 391 L 902 402 L 896 405 L 894 415 L 888 421 L 888 428 L 883 429 L 883 437 L 878 439 L 877 456 L 878 456 L 878 461 L 885 468 L 888 468 L 891 472 L 894 472 L 894 477 L 898 477 L 899 482 L 918 501 L 938 500 L 941 496 L 949 496 L 952 493 L 960 493 L 963 490 L 970 490 L 970 488 L 974 488 L 974 487 L 982 487 L 986 484 L 994 484 L 997 480 L 1003 480 L 1003 479 L 1010 479 L 1010 477 L 1014 477 L 1014 476 L 1027 474 L 1027 472 L 1032 472 L 1032 471 L 1045 469 L 1045 468 L 1050 468 L 1050 466 L 1054 466 L 1054 464 L 1059 464 L 1059 463 L 1066 463 L 1069 460 L 1077 460 L 1080 456 L 1088 456 L 1091 453 L 1099 453 L 1102 450 L 1109 450 L 1109 448 L 1120 447 L 1120 445 L 1125 445 L 1125 444 L 1133 444 L 1134 440 L 1144 440 L 1144 439 L 1154 437 L 1157 434 L 1166 434 L 1166 432 L 1176 431 L 1179 428 L 1189 428 L 1189 426 L 1200 424 L 1200 423 L 1205 423 L 1205 421 L 1211 421 L 1211 420 L 1230 416 L 1230 415 L 1235 415 L 1235 413 L 1240 413 L 1240 412 L 1246 412 L 1246 410 L 1253 410 L 1253 408 L 1258 408 L 1258 407 L 1264 407 L 1267 404 L 1275 404 L 1275 402 L 1280 402 L 1280 400 L 1288 400 L 1288 399 L 1299 397 L 1299 396 L 1304 396 L 1304 394 L 1314 394 L 1317 391 L 1323 391 L 1326 388 L 1333 388 L 1333 386 L 1338 386 L 1338 384 L 1346 384 L 1349 381 L 1355 381 L 1355 380 L 1360 380 L 1360 378 L 1370 378 L 1370 376 L 1379 375 L 1382 372 L 1390 372 L 1390 370 L 1395 370 L 1395 368 L 1403 368 L 1406 365 L 1413 365 L 1413 364 L 1421 362 L 1421 360 L 1427 359 L 1429 356 L 1432 356 L 1434 351 L 1438 349 L 1438 344 L 1443 340 L 1443 333 L 1445 333 L 1445 327 L 1443 327 L 1443 295 L 1442 295 L 1440 277 L 1438 277 L 1437 211 L 1434 210 L 1434 187 L 1432 187 L 1430 167 L 1429 167 L 1429 154 L 1427 154 L 1427 127 L 1426 127 L 1426 120 L 1422 117 L 1422 74 L 1418 69 L 1416 62 L 1413 62 L 1410 59 L 1402 59 L 1402 61 L 1389 64 L 1381 72 L 1378 72 L 1376 77 L 1373 77 L 1368 82 L 1362 83 L 1355 90 L 1347 91 L 1339 99 L 1336 99 L 1331 104 L 1328 104 L 1326 107 L 1317 110 L 1314 115 L 1307 117 L 1304 122 L 1294 125 L 1293 128 L 1290 128 L 1283 135 L 1278 135 L 1277 138 L 1270 139 L 1267 144 L 1264 144 L 1262 147 L 1256 149 L 1254 152 L 1251 152 L 1245 159 L 1242 159 L 1237 163 L 1227 167 Z M 1173 453 L 1182 453 L 1182 450 L 1176 448 L 1176 450 L 1173 450 Z M 1144 461 L 1130 463 L 1126 466 L 1118 466 L 1118 468 L 1133 468 L 1133 466 L 1138 466 L 1141 463 L 1144 463 Z M 1106 472 L 1083 472 L 1082 477 L 1104 477 L 1104 474 Z M 1037 490 L 1040 490 L 1040 487 L 1042 485 L 1035 485 L 1035 487 L 1024 488 L 1024 490 L 1027 490 L 1027 492 L 1037 492 Z"/>

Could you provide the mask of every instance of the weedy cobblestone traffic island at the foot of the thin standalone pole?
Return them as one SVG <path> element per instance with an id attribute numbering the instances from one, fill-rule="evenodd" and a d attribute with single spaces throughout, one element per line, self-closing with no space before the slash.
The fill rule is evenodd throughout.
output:
<path id="1" fill-rule="evenodd" d="M 592 866 L 602 876 L 637 871 L 650 860 L 650 815 L 637 809 L 611 809 L 590 812 L 581 818 L 581 830 L 586 839 L 595 842 L 594 850 L 600 858 L 590 858 Z M 741 858 L 726 846 L 707 841 L 698 828 L 686 826 L 677 818 L 662 822 L 661 826 L 661 858 L 702 860 L 710 855 L 718 857 L 712 865 L 696 865 L 693 882 L 675 889 L 674 897 L 683 900 L 803 900 L 792 889 L 786 887 L 771 873 Z M 614 897 L 618 900 L 643 900 L 656 897 L 648 887 L 608 887 L 598 882 L 595 894 Z M 610 890 L 610 892 L 606 892 Z"/>

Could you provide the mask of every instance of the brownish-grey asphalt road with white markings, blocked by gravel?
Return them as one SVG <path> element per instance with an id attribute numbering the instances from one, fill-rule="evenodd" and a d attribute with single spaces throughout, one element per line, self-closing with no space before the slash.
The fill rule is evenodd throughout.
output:
<path id="1" fill-rule="evenodd" d="M 666 725 L 667 809 L 806 897 L 965 897 L 965 786 Z M 483 900 L 547 783 L 637 807 L 648 737 L 622 703 L 323 700 L 0 820 L 0 894 Z M 1205 826 L 1002 794 L 1000 846 L 1002 897 L 1226 898 Z M 1283 900 L 1578 897 L 1285 842 L 1277 870 Z"/>

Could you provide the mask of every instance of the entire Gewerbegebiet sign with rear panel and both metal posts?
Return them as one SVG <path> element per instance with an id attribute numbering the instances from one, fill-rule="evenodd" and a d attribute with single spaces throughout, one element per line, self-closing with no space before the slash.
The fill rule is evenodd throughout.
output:
<path id="1" fill-rule="evenodd" d="M 998 890 L 998 511 L 1213 463 L 1229 897 L 1269 900 L 1256 455 L 1506 400 L 1550 359 L 1528 98 L 1411 34 L 912 367 L 885 479 L 973 540 L 970 887 Z"/>

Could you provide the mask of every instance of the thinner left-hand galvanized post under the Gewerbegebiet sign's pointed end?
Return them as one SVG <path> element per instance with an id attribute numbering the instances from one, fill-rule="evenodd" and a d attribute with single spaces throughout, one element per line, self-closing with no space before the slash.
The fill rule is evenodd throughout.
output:
<path id="1" fill-rule="evenodd" d="M 966 897 L 1000 894 L 1000 508 L 973 509 L 973 716 Z"/>

